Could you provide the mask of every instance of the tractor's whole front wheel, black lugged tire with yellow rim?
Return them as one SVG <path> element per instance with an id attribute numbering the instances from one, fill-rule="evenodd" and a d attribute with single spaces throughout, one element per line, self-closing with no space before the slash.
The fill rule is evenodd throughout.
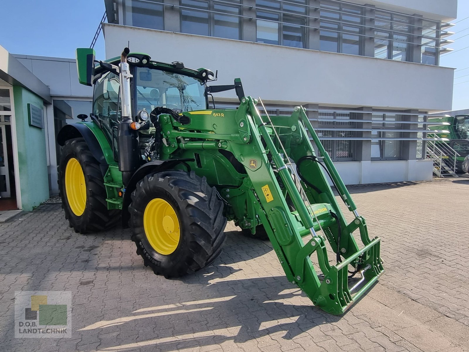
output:
<path id="1" fill-rule="evenodd" d="M 223 202 L 194 172 L 145 176 L 129 206 L 137 254 L 157 275 L 180 277 L 212 263 L 225 242 Z"/>

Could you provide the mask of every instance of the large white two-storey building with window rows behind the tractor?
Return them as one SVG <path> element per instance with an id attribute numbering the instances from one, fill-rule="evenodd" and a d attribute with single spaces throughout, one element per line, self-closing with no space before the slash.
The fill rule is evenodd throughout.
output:
<path id="1" fill-rule="evenodd" d="M 450 110 L 439 66 L 457 0 L 105 0 L 106 57 L 240 77 L 272 114 L 305 106 L 346 184 L 431 179 L 426 114 Z M 234 106 L 232 92 L 217 107 Z"/>

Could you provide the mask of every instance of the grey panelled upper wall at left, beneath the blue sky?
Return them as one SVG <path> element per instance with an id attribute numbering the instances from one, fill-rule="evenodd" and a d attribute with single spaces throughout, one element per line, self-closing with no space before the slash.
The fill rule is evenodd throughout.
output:
<path id="1" fill-rule="evenodd" d="M 78 83 L 75 59 L 14 55 L 27 69 L 50 88 L 50 94 L 61 97 L 92 97 L 93 89 Z"/>

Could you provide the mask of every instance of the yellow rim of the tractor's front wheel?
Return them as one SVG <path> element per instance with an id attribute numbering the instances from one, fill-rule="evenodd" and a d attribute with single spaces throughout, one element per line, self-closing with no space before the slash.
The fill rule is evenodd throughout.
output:
<path id="1" fill-rule="evenodd" d="M 181 229 L 174 208 L 161 198 L 151 199 L 144 212 L 144 230 L 155 251 L 168 255 L 179 244 Z"/>

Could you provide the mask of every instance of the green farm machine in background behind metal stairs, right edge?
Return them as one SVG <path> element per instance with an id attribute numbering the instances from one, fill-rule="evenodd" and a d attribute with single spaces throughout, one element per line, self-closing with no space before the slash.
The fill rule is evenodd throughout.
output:
<path id="1" fill-rule="evenodd" d="M 448 163 L 455 164 L 457 172 L 469 172 L 469 115 L 430 117 L 430 119 L 431 122 L 442 123 L 441 125 L 429 126 L 429 130 L 440 130 L 433 133 L 433 135 L 438 138 L 445 138 L 446 141 L 442 143 L 447 143 L 459 154 L 455 156 L 453 153 L 448 153 Z"/>

